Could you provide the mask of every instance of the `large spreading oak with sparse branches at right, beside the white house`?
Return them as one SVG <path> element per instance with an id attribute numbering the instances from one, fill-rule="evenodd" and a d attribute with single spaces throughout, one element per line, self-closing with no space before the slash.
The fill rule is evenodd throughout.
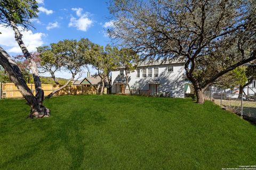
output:
<path id="1" fill-rule="evenodd" d="M 113 0 L 109 10 L 116 43 L 144 60 L 185 62 L 197 103 L 223 74 L 256 59 L 255 1 Z"/>

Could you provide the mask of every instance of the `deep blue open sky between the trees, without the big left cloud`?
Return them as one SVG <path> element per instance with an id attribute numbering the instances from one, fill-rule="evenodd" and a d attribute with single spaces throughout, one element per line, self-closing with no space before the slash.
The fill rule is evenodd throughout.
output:
<path id="1" fill-rule="evenodd" d="M 63 39 L 80 39 L 89 38 L 93 43 L 100 45 L 106 45 L 109 43 L 109 38 L 104 35 L 103 27 L 105 22 L 109 20 L 109 12 L 107 8 L 107 1 L 97 0 L 65 0 L 65 1 L 50 1 L 45 0 L 43 4 L 38 6 L 44 7 L 47 10 L 52 10 L 52 14 L 46 14 L 45 12 L 39 13 L 39 22 L 35 22 L 36 32 L 47 33 L 45 37 L 45 43 L 57 43 L 59 40 Z M 39 8 L 40 9 L 40 8 Z M 79 16 L 76 12 L 80 12 Z M 84 25 L 79 25 L 76 27 L 69 25 L 70 20 L 84 19 Z M 87 19 L 87 20 L 86 20 Z M 87 23 L 91 21 L 90 23 Z M 57 28 L 52 28 L 47 30 L 47 25 L 49 23 L 58 23 Z M 79 21 L 78 21 L 79 22 Z M 87 23 L 87 27 L 86 27 Z M 79 23 L 78 23 L 79 24 Z M 49 28 L 48 28 L 49 29 Z"/>

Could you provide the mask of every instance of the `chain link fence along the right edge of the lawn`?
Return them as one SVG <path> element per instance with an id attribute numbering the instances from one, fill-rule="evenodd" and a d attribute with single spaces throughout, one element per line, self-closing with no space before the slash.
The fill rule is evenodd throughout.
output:
<path id="1" fill-rule="evenodd" d="M 227 92 L 205 91 L 204 97 L 222 108 L 256 122 L 256 95 L 239 95 Z"/>

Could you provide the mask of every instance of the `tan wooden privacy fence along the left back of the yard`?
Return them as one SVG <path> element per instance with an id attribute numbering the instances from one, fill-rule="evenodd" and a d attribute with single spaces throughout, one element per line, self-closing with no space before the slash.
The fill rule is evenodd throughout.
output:
<path id="1" fill-rule="evenodd" d="M 31 89 L 34 95 L 35 92 L 35 84 L 27 84 Z M 58 89 L 59 86 L 53 86 L 52 84 L 42 84 L 42 89 L 44 90 L 44 96 L 49 95 L 53 90 Z M 67 86 L 66 88 L 58 91 L 54 96 L 62 96 L 62 95 L 87 95 L 87 94 L 96 94 L 97 89 L 94 86 L 85 87 L 83 85 L 80 86 Z M 104 89 L 104 93 L 107 93 L 107 88 Z M 0 83 L 0 99 L 1 98 L 23 98 L 18 88 L 14 83 Z"/>

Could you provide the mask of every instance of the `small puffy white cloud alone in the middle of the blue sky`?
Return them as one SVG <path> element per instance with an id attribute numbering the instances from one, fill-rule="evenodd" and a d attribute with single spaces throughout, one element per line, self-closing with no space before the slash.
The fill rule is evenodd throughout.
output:
<path id="1" fill-rule="evenodd" d="M 87 29 L 92 25 L 92 20 L 89 19 L 89 13 L 83 13 L 82 8 L 71 8 L 71 10 L 76 12 L 78 18 L 71 16 L 68 27 L 76 27 L 77 30 L 87 31 Z"/>

